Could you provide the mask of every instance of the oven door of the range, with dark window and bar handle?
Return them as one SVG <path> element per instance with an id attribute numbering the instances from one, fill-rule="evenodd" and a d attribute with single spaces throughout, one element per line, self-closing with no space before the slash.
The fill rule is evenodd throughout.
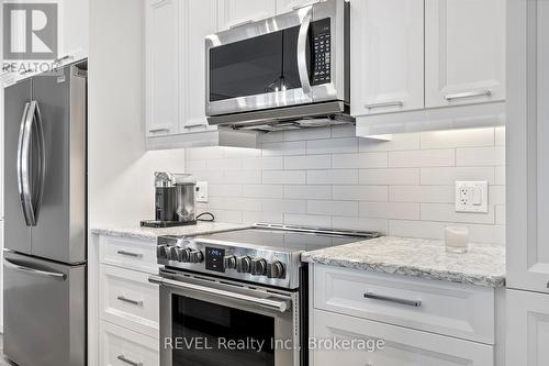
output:
<path id="1" fill-rule="evenodd" d="M 190 275 L 160 285 L 160 366 L 299 366 L 298 292 Z"/>

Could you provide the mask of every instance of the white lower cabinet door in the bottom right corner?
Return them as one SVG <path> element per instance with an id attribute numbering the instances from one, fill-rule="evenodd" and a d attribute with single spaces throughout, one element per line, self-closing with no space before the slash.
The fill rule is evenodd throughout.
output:
<path id="1" fill-rule="evenodd" d="M 549 365 L 548 295 L 507 290 L 507 365 Z"/>

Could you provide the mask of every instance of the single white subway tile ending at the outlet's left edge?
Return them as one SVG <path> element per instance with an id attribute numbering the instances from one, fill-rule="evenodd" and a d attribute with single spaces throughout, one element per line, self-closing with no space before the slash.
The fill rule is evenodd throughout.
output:
<path id="1" fill-rule="evenodd" d="M 456 195 L 453 186 L 391 186 L 391 202 L 430 202 L 453 203 Z"/>

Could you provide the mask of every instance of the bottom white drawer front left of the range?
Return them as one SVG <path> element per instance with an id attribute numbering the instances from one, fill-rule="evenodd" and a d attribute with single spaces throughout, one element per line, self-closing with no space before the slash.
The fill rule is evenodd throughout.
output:
<path id="1" fill-rule="evenodd" d="M 99 326 L 100 366 L 158 366 L 158 340 L 102 321 Z"/>

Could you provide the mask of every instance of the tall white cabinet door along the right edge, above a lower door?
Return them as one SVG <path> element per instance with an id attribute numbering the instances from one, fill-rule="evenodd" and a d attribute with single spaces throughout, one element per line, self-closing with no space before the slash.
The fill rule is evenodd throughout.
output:
<path id="1" fill-rule="evenodd" d="M 507 287 L 549 292 L 549 2 L 508 11 Z"/>

